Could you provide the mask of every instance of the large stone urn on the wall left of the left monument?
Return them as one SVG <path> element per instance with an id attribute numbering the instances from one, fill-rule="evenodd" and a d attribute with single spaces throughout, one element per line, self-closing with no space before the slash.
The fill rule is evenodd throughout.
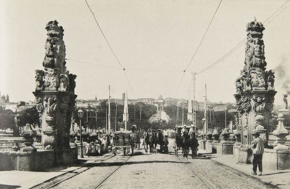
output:
<path id="1" fill-rule="evenodd" d="M 36 131 L 32 130 L 30 124 L 26 124 L 24 130 L 21 132 L 21 136 L 24 138 L 25 147 L 22 149 L 23 152 L 35 152 L 36 148 L 32 146 L 33 137 L 36 136 Z"/>

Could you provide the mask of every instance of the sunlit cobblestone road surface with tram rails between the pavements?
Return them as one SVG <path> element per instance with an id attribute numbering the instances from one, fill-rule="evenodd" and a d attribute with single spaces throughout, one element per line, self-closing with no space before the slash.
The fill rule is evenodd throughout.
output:
<path id="1" fill-rule="evenodd" d="M 203 157 L 180 159 L 172 143 L 167 154 L 146 154 L 143 149 L 132 157 L 119 154 L 53 188 L 274 188 Z"/>

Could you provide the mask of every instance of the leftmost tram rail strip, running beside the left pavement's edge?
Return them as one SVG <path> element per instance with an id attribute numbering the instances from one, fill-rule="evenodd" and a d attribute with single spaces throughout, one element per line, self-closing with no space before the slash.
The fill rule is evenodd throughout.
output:
<path id="1" fill-rule="evenodd" d="M 118 151 L 123 151 L 123 150 L 118 150 Z M 121 152 L 118 152 L 117 154 L 120 154 L 120 153 L 121 153 Z M 117 155 L 117 154 L 116 154 L 116 155 Z M 106 157 L 108 157 L 108 158 L 106 158 Z M 104 157 L 104 158 L 106 158 L 106 159 L 104 159 L 104 160 L 102 160 L 102 161 L 95 160 L 95 161 L 89 163 L 89 164 L 91 164 L 91 165 L 88 166 L 88 167 L 85 168 L 85 169 L 83 169 L 83 168 L 84 168 L 85 166 L 87 166 L 88 164 L 83 165 L 83 166 L 81 166 L 81 167 L 78 167 L 78 168 L 76 168 L 76 169 L 74 169 L 74 170 L 71 170 L 71 171 L 65 172 L 64 174 L 58 175 L 58 176 L 56 176 L 56 177 L 52 177 L 51 179 L 48 179 L 47 181 L 45 181 L 45 182 L 43 182 L 43 183 L 41 183 L 41 184 L 38 184 L 38 185 L 36 185 L 36 186 L 33 186 L 32 189 L 44 188 L 45 186 L 43 187 L 43 185 L 47 185 L 49 182 L 54 182 L 53 180 L 56 180 L 52 185 L 46 187 L 45 189 L 53 188 L 54 186 L 57 186 L 58 184 L 60 184 L 60 183 L 62 183 L 62 182 L 64 182 L 64 181 L 66 181 L 66 180 L 68 180 L 68 179 L 70 179 L 70 178 L 72 178 L 72 177 L 75 177 L 76 175 L 79 175 L 81 172 L 84 172 L 84 171 L 86 171 L 86 170 L 92 168 L 93 166 L 96 166 L 97 164 L 102 163 L 102 162 L 104 162 L 104 161 L 106 161 L 106 160 L 108 160 L 108 159 L 110 159 L 110 158 L 112 158 L 112 157 L 115 157 L 115 156 L 114 156 L 114 153 L 110 153 L 110 154 L 106 155 L 106 156 Z M 97 162 L 97 161 L 99 161 L 99 162 Z M 82 170 L 82 169 L 83 169 L 83 170 Z M 77 171 L 77 170 L 80 170 L 80 171 Z M 65 177 L 66 175 L 70 175 L 70 176 L 68 176 L 68 177 L 66 177 L 66 178 L 64 178 L 64 179 L 61 179 L 60 181 L 57 180 L 58 178 L 60 178 L 60 177 Z"/>

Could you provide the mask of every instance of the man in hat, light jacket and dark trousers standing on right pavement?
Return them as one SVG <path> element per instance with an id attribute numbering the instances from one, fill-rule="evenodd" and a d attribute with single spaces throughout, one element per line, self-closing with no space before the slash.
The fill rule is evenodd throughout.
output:
<path id="1" fill-rule="evenodd" d="M 255 139 L 252 143 L 253 147 L 253 175 L 257 175 L 257 165 L 259 167 L 259 176 L 262 175 L 262 157 L 264 153 L 264 141 L 259 137 L 260 134 L 258 132 L 254 132 L 252 134 Z"/>

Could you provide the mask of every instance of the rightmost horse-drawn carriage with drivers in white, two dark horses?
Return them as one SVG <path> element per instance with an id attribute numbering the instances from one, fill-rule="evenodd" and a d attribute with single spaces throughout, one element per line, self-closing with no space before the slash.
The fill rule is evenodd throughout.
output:
<path id="1" fill-rule="evenodd" d="M 181 130 L 184 128 L 184 126 L 175 126 L 175 140 L 174 140 L 174 150 L 175 155 L 178 155 L 178 150 L 182 148 L 182 153 L 184 154 L 184 157 L 187 157 L 187 154 L 189 153 L 189 148 L 191 148 L 192 152 L 192 158 L 196 157 L 197 154 L 197 146 L 199 146 L 197 139 L 194 137 L 190 137 L 188 135 L 189 129 L 191 126 L 185 126 L 187 133 L 182 136 Z"/>

